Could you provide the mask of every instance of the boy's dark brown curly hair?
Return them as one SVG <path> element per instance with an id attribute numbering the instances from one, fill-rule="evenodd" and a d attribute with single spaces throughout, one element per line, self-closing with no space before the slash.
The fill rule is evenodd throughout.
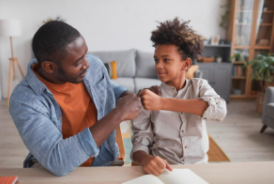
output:
<path id="1" fill-rule="evenodd" d="M 153 46 L 171 44 L 178 47 L 182 59 L 195 60 L 204 51 L 202 37 L 188 26 L 190 21 L 182 21 L 176 17 L 172 21 L 161 22 L 156 30 L 152 31 L 150 40 Z"/>

